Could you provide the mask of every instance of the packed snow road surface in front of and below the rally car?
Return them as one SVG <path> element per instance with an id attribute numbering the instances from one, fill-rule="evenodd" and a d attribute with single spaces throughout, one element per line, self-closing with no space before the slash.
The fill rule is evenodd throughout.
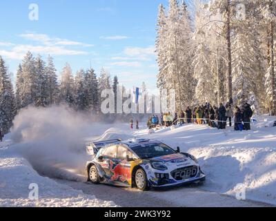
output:
<path id="1" fill-rule="evenodd" d="M 95 195 L 102 201 L 112 201 L 123 207 L 261 207 L 271 206 L 262 202 L 237 200 L 236 198 L 199 189 L 197 186 L 184 186 L 166 191 L 146 191 L 108 185 L 94 185 L 88 182 L 56 180 L 86 195 Z"/>

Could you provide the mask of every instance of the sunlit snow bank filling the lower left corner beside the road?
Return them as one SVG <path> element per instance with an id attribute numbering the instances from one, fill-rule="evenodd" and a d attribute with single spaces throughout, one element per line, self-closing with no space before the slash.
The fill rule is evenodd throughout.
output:
<path id="1" fill-rule="evenodd" d="M 23 158 L 0 150 L 0 206 L 116 206 L 69 186 L 41 177 Z M 39 199 L 30 200 L 30 184 L 37 184 Z"/>

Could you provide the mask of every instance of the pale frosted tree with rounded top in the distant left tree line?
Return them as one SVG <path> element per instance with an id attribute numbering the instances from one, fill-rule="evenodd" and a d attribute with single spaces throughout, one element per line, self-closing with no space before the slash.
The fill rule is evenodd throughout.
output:
<path id="1" fill-rule="evenodd" d="M 73 106 L 74 104 L 74 79 L 72 77 L 72 69 L 68 63 L 66 63 L 61 72 L 60 100 L 68 104 L 68 106 Z"/>

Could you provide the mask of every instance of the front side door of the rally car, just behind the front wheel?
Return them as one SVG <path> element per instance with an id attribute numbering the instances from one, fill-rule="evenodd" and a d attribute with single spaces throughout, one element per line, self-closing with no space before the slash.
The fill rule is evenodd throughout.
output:
<path id="1" fill-rule="evenodd" d="M 131 162 L 127 161 L 127 156 L 132 159 L 132 153 L 128 148 L 119 145 L 117 148 L 117 166 L 113 169 L 116 174 L 117 182 L 122 185 L 131 184 Z"/>

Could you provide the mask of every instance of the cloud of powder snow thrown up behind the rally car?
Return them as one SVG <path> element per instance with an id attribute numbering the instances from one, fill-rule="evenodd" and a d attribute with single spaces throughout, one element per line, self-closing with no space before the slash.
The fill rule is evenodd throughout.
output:
<path id="1" fill-rule="evenodd" d="M 43 175 L 82 180 L 89 160 L 84 137 L 91 135 L 92 125 L 64 106 L 26 108 L 14 119 L 12 151 Z"/>

